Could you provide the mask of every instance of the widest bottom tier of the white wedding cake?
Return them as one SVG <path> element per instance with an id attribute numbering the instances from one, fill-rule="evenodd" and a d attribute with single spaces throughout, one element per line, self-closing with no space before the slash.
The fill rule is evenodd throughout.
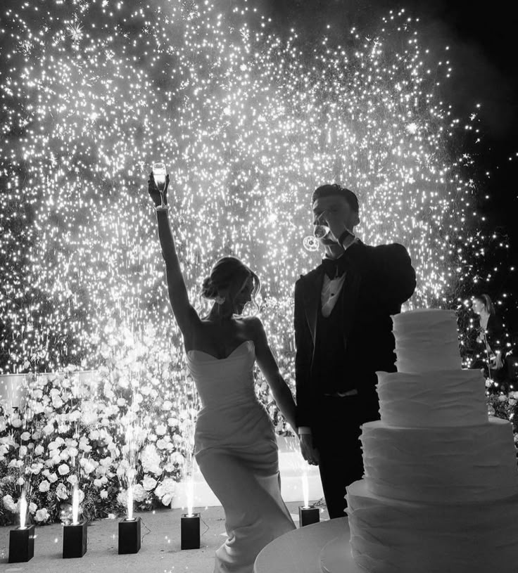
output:
<path id="1" fill-rule="evenodd" d="M 398 501 L 347 488 L 350 546 L 369 573 L 516 573 L 518 496 L 476 503 Z"/>

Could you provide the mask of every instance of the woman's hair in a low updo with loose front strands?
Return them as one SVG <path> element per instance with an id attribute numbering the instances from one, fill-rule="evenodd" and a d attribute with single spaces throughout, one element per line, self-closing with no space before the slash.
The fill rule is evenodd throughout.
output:
<path id="1" fill-rule="evenodd" d="M 236 292 L 239 292 L 239 289 L 249 276 L 253 280 L 252 302 L 255 308 L 258 309 L 255 295 L 258 294 L 261 288 L 259 277 L 237 257 L 222 257 L 216 262 L 212 271 L 210 271 L 210 276 L 203 280 L 201 296 L 209 300 L 215 300 L 221 290 L 229 288 L 233 284 L 236 285 Z"/>

